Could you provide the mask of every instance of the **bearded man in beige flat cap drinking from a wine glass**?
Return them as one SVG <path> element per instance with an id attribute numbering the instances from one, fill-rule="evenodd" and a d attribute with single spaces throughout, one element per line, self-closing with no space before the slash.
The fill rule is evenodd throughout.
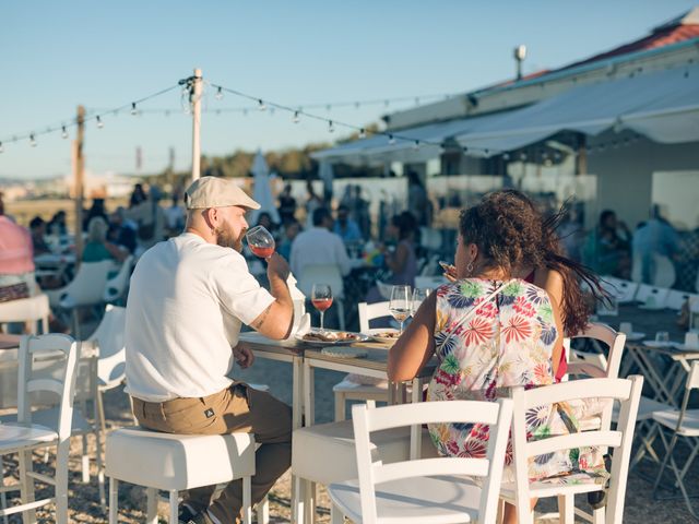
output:
<path id="1" fill-rule="evenodd" d="M 269 393 L 227 378 L 252 353 L 238 346 L 241 323 L 270 338 L 288 336 L 293 301 L 288 265 L 268 259 L 270 290 L 260 287 L 240 251 L 245 214 L 260 207 L 233 181 L 203 177 L 186 191 L 185 233 L 149 249 L 131 277 L 127 303 L 127 392 L 144 428 L 170 433 L 253 432 L 260 443 L 252 501 L 288 468 L 291 408 Z M 205 467 L 205 465 L 202 465 Z M 190 490 L 181 523 L 238 522 L 241 481 L 211 501 L 215 486 Z"/>

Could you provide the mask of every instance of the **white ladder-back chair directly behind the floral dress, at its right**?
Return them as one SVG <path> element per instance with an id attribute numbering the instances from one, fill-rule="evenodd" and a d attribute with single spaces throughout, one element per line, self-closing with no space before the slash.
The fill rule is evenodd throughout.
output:
<path id="1" fill-rule="evenodd" d="M 503 485 L 500 497 L 517 507 L 518 522 L 533 524 L 531 499 L 546 497 L 558 497 L 559 505 L 562 504 L 565 507 L 560 514 L 561 523 L 573 522 L 574 507 L 572 504 L 572 496 L 603 490 L 604 485 L 595 483 L 566 484 L 565 477 L 558 481 L 555 479 L 530 481 L 528 478 L 528 462 L 530 457 L 545 455 L 546 453 L 593 445 L 614 449 L 608 480 L 608 501 L 606 508 L 594 511 L 593 522 L 613 524 L 623 521 L 629 456 L 633 441 L 633 426 L 642 386 L 643 378 L 635 376 L 628 380 L 585 379 L 535 388 L 529 391 L 524 391 L 521 386 L 512 390 L 512 400 L 514 401 L 512 446 L 514 451 L 516 481 Z M 528 442 L 525 417 L 529 409 L 557 402 L 583 398 L 609 398 L 620 402 L 621 412 L 616 430 L 611 431 L 600 428 Z"/>

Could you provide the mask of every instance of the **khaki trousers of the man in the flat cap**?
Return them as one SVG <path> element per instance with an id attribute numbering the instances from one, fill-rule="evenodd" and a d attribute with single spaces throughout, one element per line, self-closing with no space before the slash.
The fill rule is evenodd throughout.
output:
<path id="1" fill-rule="evenodd" d="M 154 431 L 185 434 L 254 433 L 261 444 L 256 453 L 252 477 L 252 503 L 266 495 L 292 464 L 292 409 L 269 393 L 242 382 L 200 398 L 144 402 L 133 397 L 133 414 L 139 424 Z M 232 481 L 213 502 L 215 486 L 188 491 L 187 502 L 209 513 L 222 524 L 235 523 L 242 507 L 242 481 Z"/>

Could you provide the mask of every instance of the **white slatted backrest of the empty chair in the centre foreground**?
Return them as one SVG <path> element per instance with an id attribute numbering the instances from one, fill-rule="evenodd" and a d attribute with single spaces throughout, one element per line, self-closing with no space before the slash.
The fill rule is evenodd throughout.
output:
<path id="1" fill-rule="evenodd" d="M 497 517 L 500 479 L 505 464 L 512 403 L 507 398 L 497 402 L 445 401 L 402 404 L 368 408 L 357 404 L 352 408 L 357 472 L 362 497 L 362 517 L 365 524 L 388 522 L 379 519 L 376 510 L 375 485 L 435 475 L 483 477 L 477 522 L 495 523 Z M 439 457 L 383 464 L 371 458 L 370 433 L 390 428 L 430 422 L 479 422 L 490 426 L 490 439 L 484 458 Z M 422 516 L 401 519 L 401 522 L 423 522 Z M 393 516 L 391 522 L 395 522 Z"/>

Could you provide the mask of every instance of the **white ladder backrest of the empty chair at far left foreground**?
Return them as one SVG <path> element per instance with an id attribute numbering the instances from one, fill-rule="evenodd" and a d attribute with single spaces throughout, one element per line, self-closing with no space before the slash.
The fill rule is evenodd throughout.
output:
<path id="1" fill-rule="evenodd" d="M 56 358 L 61 355 L 61 371 L 47 377 L 35 373 L 35 364 L 42 357 Z M 20 343 L 20 372 L 17 386 L 17 421 L 32 421 L 32 394 L 50 392 L 59 397 L 58 437 L 63 441 L 70 437 L 73 417 L 73 393 L 80 343 L 63 334 L 25 336 Z"/>

